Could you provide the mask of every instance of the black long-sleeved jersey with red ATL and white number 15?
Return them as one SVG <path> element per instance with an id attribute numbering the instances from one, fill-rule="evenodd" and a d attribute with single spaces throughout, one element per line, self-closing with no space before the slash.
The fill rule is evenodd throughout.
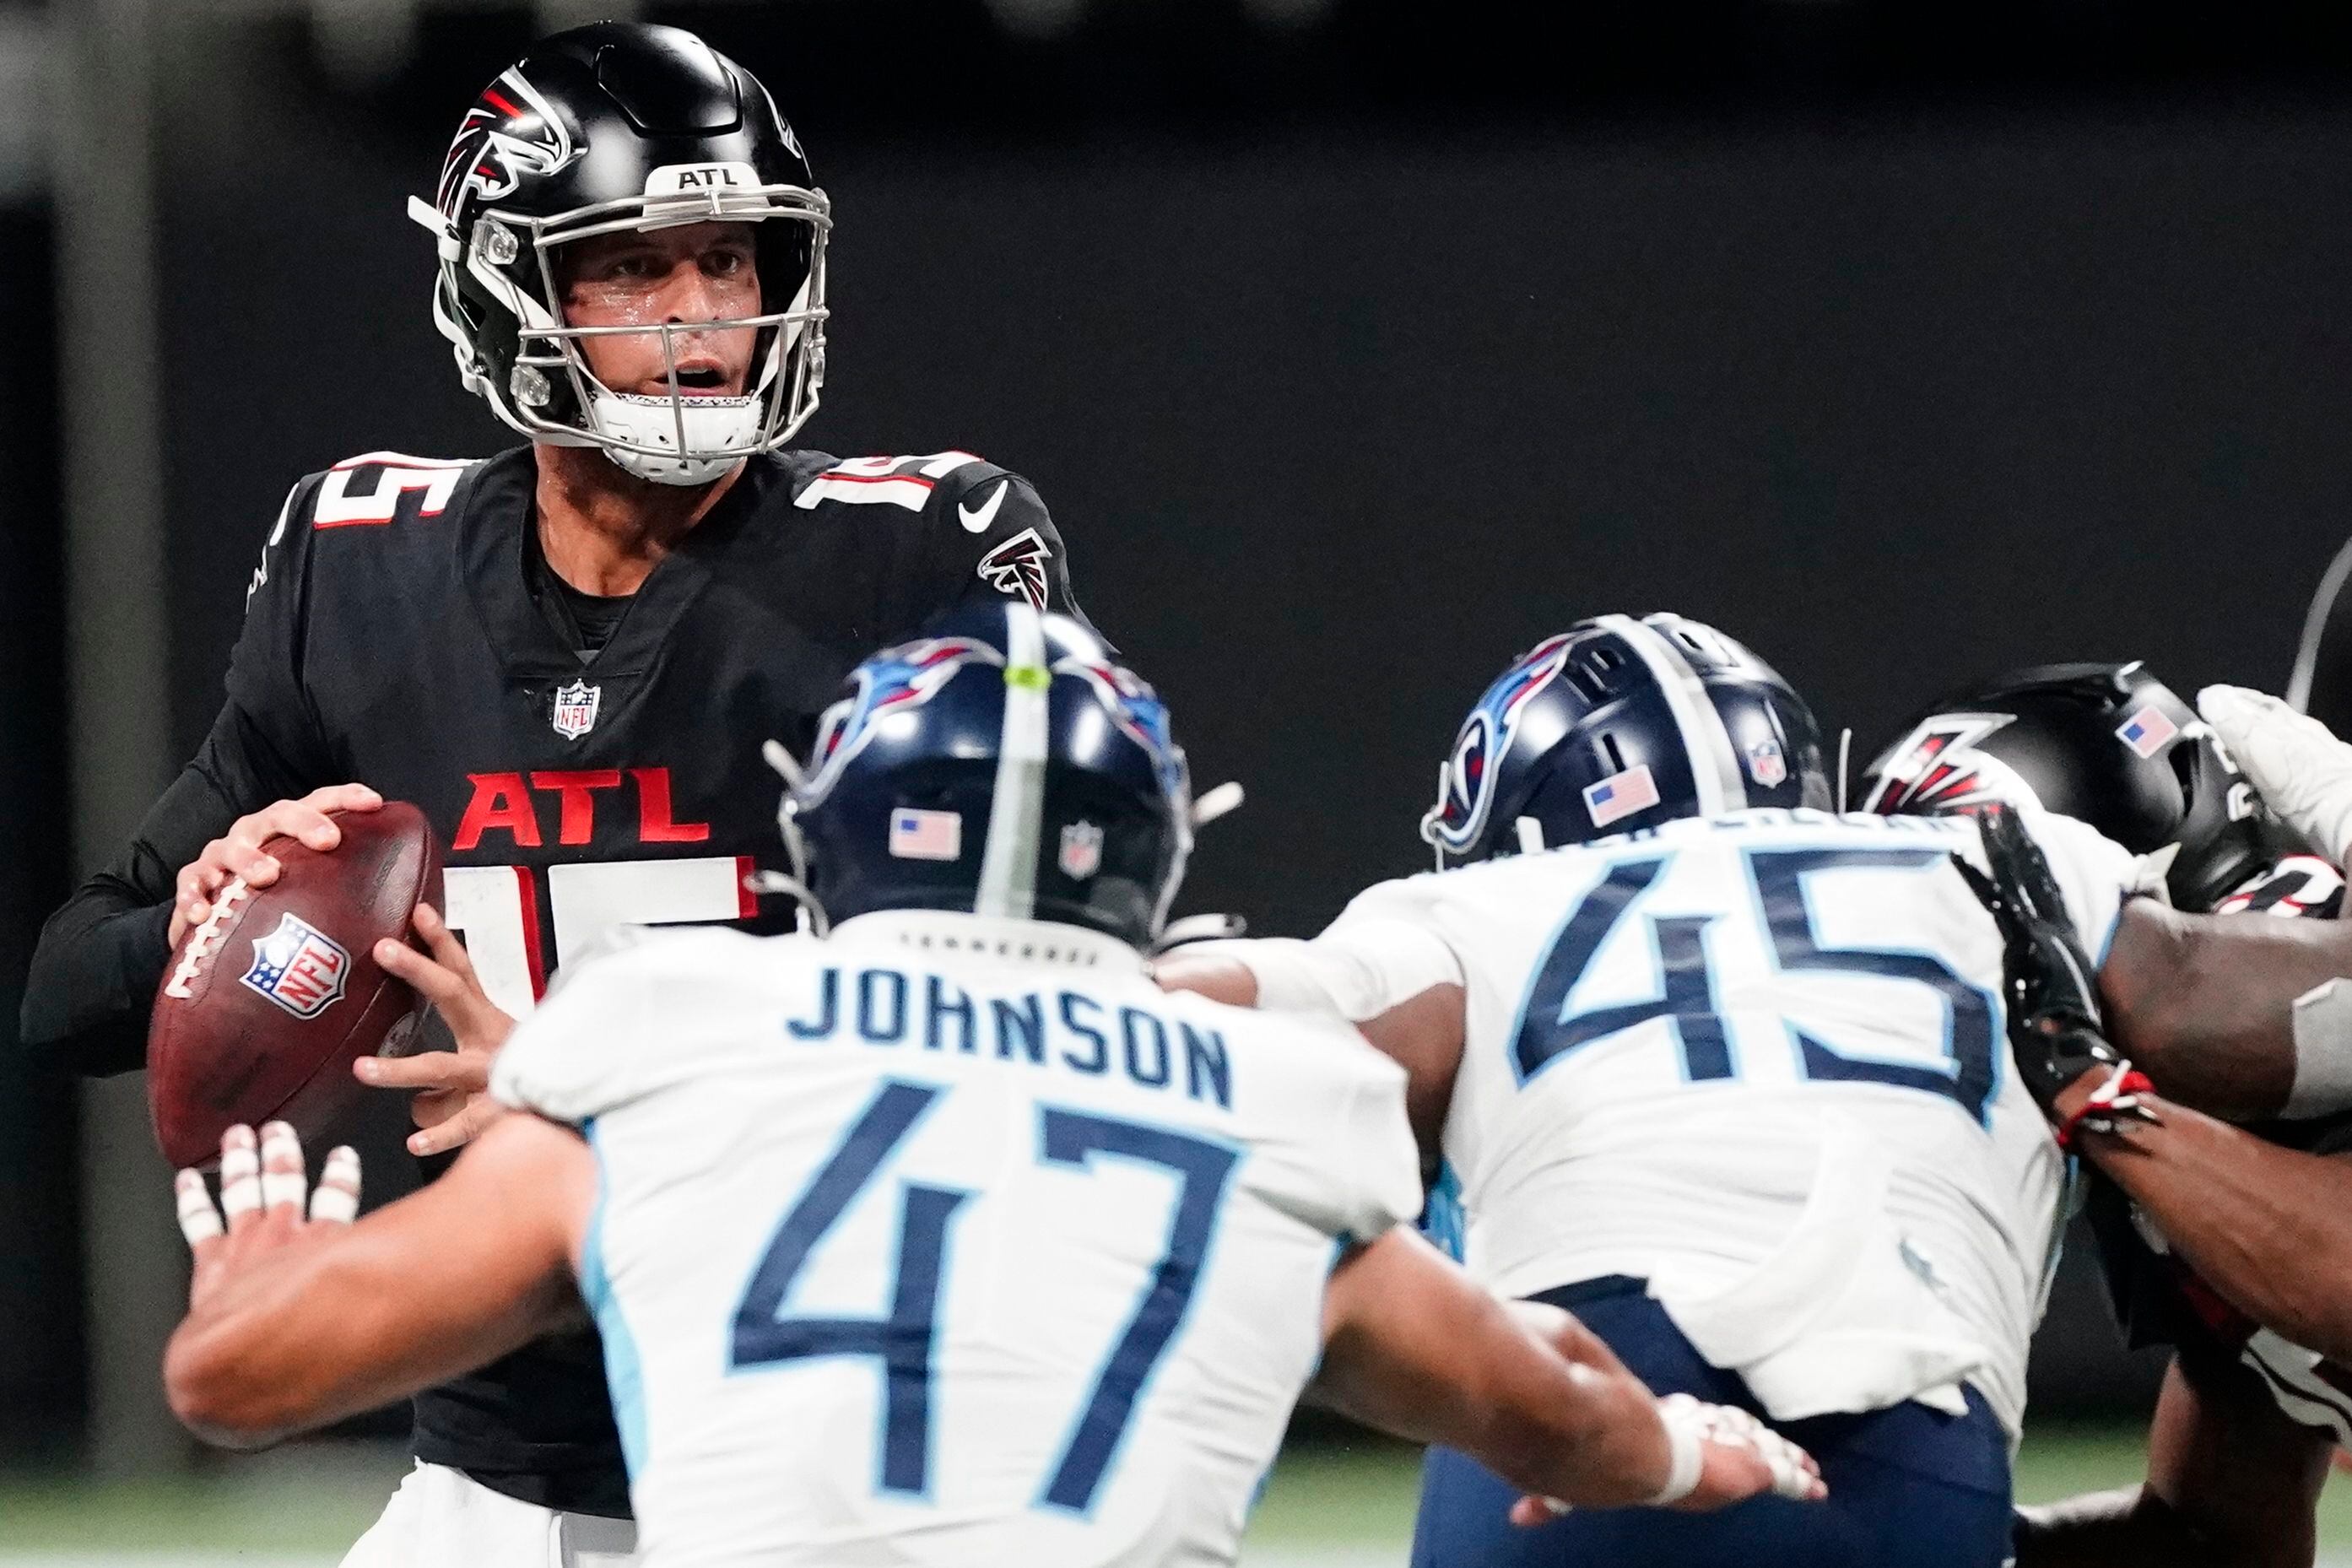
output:
<path id="1" fill-rule="evenodd" d="M 760 743 L 804 757 L 866 654 L 967 597 L 1077 614 L 1025 480 L 964 451 L 790 451 L 753 458 L 583 651 L 532 592 L 534 482 L 520 447 L 379 451 L 294 487 L 205 750 L 42 936 L 35 1048 L 136 1065 L 179 865 L 238 816 L 343 780 L 430 818 L 449 924 L 510 1013 L 619 924 L 786 929 L 743 882 L 783 863 Z M 416 1453 L 550 1507 L 628 1512 L 588 1333 L 421 1396 Z"/>

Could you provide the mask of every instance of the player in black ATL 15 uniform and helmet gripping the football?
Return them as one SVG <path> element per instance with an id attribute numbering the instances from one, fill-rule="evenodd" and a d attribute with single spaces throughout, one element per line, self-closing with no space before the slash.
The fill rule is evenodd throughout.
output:
<path id="1" fill-rule="evenodd" d="M 459 1048 L 358 1067 L 419 1091 L 409 1147 L 435 1157 L 494 1112 L 492 1051 L 602 931 L 760 926 L 760 736 L 804 750 L 842 675 L 946 607 L 1075 609 L 1016 475 L 967 451 L 788 447 L 826 369 L 830 209 L 767 89 L 691 33 L 543 40 L 466 110 L 414 209 L 459 374 L 527 444 L 372 451 L 292 489 L 228 701 L 49 919 L 24 1041 L 136 1067 L 181 931 L 230 879 L 278 875 L 263 839 L 332 849 L 332 811 L 407 799 L 445 851 L 447 922 L 416 917 L 437 961 L 379 957 Z M 421 1394 L 416 1458 L 358 1561 L 461 1563 L 433 1521 L 463 1535 L 449 1521 L 515 1509 L 548 1554 L 626 1552 L 588 1333 Z"/>

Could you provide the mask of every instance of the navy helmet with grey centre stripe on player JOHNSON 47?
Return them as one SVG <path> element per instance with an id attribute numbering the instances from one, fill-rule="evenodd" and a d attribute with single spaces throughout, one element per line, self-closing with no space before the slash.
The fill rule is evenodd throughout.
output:
<path id="1" fill-rule="evenodd" d="M 851 670 L 779 825 L 835 922 L 964 910 L 1150 947 L 1192 783 L 1160 696 L 1091 630 L 997 599 Z"/>

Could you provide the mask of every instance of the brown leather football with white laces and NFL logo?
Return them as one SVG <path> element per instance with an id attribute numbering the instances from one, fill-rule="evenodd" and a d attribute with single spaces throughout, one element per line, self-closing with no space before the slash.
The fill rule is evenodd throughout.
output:
<path id="1" fill-rule="evenodd" d="M 155 990 L 148 1107 L 174 1166 L 209 1168 L 240 1121 L 325 1133 L 367 1093 L 350 1063 L 397 1056 L 416 1027 L 416 992 L 374 950 L 388 936 L 416 945 L 409 912 L 442 907 L 433 830 L 395 799 L 329 816 L 343 842 L 322 853 L 268 839 L 278 882 L 223 886 Z"/>

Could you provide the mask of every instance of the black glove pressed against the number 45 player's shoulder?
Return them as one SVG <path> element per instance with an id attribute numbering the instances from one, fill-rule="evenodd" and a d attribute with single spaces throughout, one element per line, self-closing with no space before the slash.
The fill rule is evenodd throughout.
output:
<path id="1" fill-rule="evenodd" d="M 2009 806 L 1983 806 L 1973 816 L 1992 875 L 1985 877 L 1959 851 L 1952 851 L 1952 865 L 2002 926 L 2002 999 L 2009 1004 L 2009 1051 L 2018 1077 L 2042 1114 L 2063 1126 L 2065 1117 L 2056 1110 L 2060 1091 L 2093 1070 L 2119 1077 L 2131 1063 L 2100 1034 L 2091 959 L 2074 940 L 2065 896 L 2042 846 Z"/>

